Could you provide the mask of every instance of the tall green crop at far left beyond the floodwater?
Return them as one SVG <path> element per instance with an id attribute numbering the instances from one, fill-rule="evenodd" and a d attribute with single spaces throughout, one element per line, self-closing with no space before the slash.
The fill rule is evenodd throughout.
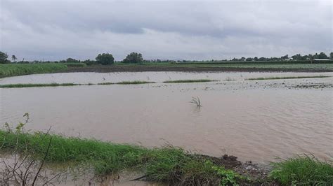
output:
<path id="1" fill-rule="evenodd" d="M 65 64 L 0 64 L 0 78 L 66 71 Z"/>

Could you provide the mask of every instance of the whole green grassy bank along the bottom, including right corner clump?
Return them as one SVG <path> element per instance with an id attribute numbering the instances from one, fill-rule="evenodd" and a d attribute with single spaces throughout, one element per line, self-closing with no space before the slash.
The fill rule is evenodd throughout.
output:
<path id="1" fill-rule="evenodd" d="M 19 130 L 19 131 L 18 131 Z M 55 134 L 0 130 L 0 150 L 25 153 L 47 163 L 84 164 L 96 176 L 119 173 L 124 169 L 142 171 L 148 181 L 170 185 L 237 185 L 279 183 L 280 185 L 329 185 L 333 183 L 333 166 L 311 157 L 294 157 L 273 163 L 266 180 L 253 180 L 216 164 L 206 156 L 193 155 L 182 148 L 166 145 L 144 148 L 93 139 L 64 137 Z M 47 153 L 46 153 L 47 152 Z"/>

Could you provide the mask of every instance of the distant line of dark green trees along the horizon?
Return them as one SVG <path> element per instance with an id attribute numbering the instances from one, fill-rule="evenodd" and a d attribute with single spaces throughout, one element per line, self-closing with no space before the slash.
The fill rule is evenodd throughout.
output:
<path id="1" fill-rule="evenodd" d="M 296 54 L 292 57 L 289 57 L 288 55 L 284 55 L 282 57 L 241 57 L 241 58 L 233 58 L 230 60 L 223 59 L 222 61 L 235 61 L 235 62 L 263 62 L 263 61 L 283 61 L 283 60 L 297 60 L 297 61 L 311 61 L 313 59 L 332 59 L 333 60 L 333 52 L 329 53 L 329 56 L 325 54 L 325 52 L 315 53 L 314 55 L 301 55 Z M 214 60 L 211 60 L 214 61 Z M 221 60 L 218 60 L 221 61 Z M 60 60 L 60 61 L 25 61 L 22 59 L 21 61 L 18 61 L 18 58 L 15 55 L 11 56 L 11 60 L 8 59 L 8 55 L 5 52 L 0 51 L 0 64 L 7 64 L 7 63 L 18 63 L 18 64 L 28 64 L 28 63 L 85 63 L 87 65 L 92 64 L 103 64 L 103 65 L 110 65 L 115 63 L 115 58 L 110 53 L 102 53 L 98 54 L 95 60 L 86 59 L 86 60 L 78 60 L 73 58 L 67 58 L 66 60 Z M 174 60 L 161 60 L 161 59 L 154 59 L 154 60 L 145 60 L 143 59 L 143 56 L 141 53 L 138 52 L 131 52 L 129 55 L 125 57 L 121 61 L 122 63 L 143 63 L 143 62 L 190 62 L 187 60 L 183 61 L 174 61 Z M 195 62 L 195 61 L 192 61 Z"/>

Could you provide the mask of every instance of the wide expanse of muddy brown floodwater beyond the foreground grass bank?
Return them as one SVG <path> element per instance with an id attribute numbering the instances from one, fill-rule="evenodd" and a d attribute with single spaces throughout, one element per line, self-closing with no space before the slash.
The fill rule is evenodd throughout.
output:
<path id="1" fill-rule="evenodd" d="M 27 129 L 149 147 L 171 143 L 206 155 L 235 155 L 267 164 L 275 157 L 333 156 L 333 78 L 244 80 L 333 73 L 55 73 L 4 78 L 9 83 L 103 83 L 150 80 L 145 85 L 90 85 L 0 89 L 0 123 Z M 164 84 L 164 80 L 214 79 Z M 197 108 L 192 96 L 202 103 Z"/>

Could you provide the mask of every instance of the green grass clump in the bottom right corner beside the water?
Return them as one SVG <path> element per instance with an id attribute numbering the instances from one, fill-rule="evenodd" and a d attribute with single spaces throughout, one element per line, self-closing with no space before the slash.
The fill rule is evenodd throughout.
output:
<path id="1" fill-rule="evenodd" d="M 332 185 L 333 165 L 314 157 L 299 156 L 272 163 L 270 178 L 282 185 Z"/>

